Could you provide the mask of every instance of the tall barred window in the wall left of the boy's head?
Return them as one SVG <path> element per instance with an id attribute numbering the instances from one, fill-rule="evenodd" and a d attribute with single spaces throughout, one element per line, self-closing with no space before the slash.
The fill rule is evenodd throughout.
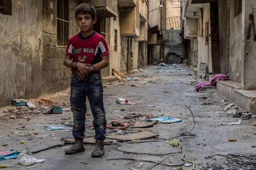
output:
<path id="1" fill-rule="evenodd" d="M 69 0 L 57 0 L 57 45 L 66 46 L 69 39 Z"/>

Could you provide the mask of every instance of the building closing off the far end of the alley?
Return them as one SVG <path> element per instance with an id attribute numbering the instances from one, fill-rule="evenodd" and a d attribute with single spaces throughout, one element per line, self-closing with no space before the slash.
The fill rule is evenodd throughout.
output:
<path id="1" fill-rule="evenodd" d="M 174 64 L 187 59 L 187 44 L 181 36 L 180 1 L 153 0 L 149 11 L 152 12 L 149 13 L 148 50 L 152 62 Z M 154 15 L 157 17 L 151 19 Z"/>

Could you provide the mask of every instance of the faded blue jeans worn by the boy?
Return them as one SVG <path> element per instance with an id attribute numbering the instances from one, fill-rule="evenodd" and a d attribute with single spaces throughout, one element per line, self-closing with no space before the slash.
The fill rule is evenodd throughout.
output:
<path id="1" fill-rule="evenodd" d="M 74 117 L 72 133 L 74 138 L 85 137 L 86 96 L 93 114 L 95 139 L 104 140 L 106 134 L 106 115 L 103 106 L 103 86 L 100 73 L 93 73 L 78 81 L 76 74 L 71 74 L 70 104 Z"/>

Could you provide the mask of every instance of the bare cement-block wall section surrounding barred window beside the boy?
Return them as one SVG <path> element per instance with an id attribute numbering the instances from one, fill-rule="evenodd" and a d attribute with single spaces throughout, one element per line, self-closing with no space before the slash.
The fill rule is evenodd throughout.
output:
<path id="1" fill-rule="evenodd" d="M 52 8 L 51 4 L 52 3 Z M 75 18 L 78 2 L 69 3 L 69 37 L 77 34 L 79 28 Z M 53 17 L 51 18 L 51 15 Z M 71 71 L 63 64 L 65 48 L 57 46 L 56 1 L 43 0 L 43 55 L 42 55 L 42 93 L 50 93 L 69 86 Z M 65 45 L 66 46 L 66 45 Z"/>

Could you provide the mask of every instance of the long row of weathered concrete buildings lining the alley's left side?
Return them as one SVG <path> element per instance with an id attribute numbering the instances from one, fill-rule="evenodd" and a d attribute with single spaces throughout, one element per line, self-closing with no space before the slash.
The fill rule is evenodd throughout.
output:
<path id="1" fill-rule="evenodd" d="M 103 77 L 148 64 L 148 0 L 0 0 L 0 106 L 69 87 L 63 59 L 80 3 L 95 7 L 94 30 L 109 47 Z"/>

